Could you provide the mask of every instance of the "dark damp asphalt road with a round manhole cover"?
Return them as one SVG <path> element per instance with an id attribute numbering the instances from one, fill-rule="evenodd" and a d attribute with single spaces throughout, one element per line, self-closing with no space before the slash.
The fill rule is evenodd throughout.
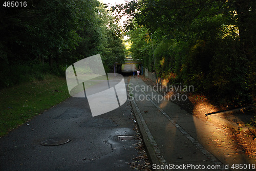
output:
<path id="1" fill-rule="evenodd" d="M 0 170 L 131 170 L 138 155 L 131 110 L 127 100 L 92 117 L 86 98 L 70 97 L 0 138 Z M 52 139 L 70 142 L 40 144 Z"/>

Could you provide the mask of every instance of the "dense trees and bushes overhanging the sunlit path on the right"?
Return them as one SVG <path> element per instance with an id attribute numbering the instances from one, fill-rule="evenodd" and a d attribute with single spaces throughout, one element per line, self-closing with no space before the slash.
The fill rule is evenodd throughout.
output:
<path id="1" fill-rule="evenodd" d="M 133 56 L 150 71 L 156 67 L 158 77 L 193 85 L 221 104 L 243 105 L 256 92 L 255 5 L 254 0 L 140 0 L 113 9 L 131 16 L 126 30 Z"/>

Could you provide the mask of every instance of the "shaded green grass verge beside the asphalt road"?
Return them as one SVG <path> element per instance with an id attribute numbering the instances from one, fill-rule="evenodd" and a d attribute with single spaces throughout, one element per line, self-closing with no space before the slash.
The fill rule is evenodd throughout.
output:
<path id="1" fill-rule="evenodd" d="M 69 92 L 65 78 L 46 75 L 41 81 L 2 89 L 0 96 L 0 136 L 3 136 L 67 99 Z"/>

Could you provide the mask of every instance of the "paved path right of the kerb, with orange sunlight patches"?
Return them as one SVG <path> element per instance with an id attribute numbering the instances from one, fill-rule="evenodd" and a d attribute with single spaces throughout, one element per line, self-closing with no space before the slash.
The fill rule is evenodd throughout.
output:
<path id="1" fill-rule="evenodd" d="M 235 151 L 223 130 L 181 110 L 140 78 L 131 78 L 129 90 L 153 169 L 254 170 L 255 160 Z"/>

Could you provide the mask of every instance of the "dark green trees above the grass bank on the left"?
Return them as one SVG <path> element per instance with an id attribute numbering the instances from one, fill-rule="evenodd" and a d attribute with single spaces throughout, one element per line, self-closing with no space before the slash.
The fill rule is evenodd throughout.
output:
<path id="1" fill-rule="evenodd" d="M 24 1 L 23 1 L 24 2 Z M 0 7 L 0 88 L 101 54 L 107 70 L 124 60 L 120 28 L 96 0 L 30 0 Z"/>

